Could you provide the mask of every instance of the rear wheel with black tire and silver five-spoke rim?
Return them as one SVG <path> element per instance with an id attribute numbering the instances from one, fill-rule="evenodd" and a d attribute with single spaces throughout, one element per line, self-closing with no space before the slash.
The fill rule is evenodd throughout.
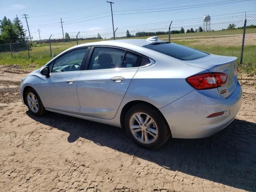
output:
<path id="1" fill-rule="evenodd" d="M 128 110 L 125 128 L 130 138 L 145 149 L 158 149 L 171 136 L 170 128 L 162 114 L 146 104 L 137 104 Z"/>

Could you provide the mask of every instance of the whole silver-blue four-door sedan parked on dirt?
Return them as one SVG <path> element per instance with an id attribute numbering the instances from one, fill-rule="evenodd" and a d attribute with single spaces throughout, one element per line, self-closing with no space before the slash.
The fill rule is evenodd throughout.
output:
<path id="1" fill-rule="evenodd" d="M 203 138 L 241 106 L 237 58 L 174 43 L 115 40 L 81 44 L 22 79 L 22 102 L 36 116 L 56 112 L 123 127 L 136 144 Z"/>

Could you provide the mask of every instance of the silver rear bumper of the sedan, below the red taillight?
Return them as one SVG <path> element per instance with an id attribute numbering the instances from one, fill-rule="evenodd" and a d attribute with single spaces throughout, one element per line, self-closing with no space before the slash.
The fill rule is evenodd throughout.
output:
<path id="1" fill-rule="evenodd" d="M 173 138 L 204 138 L 230 124 L 238 114 L 242 102 L 242 88 L 224 98 L 218 90 L 193 90 L 171 104 L 159 108 L 166 118 Z M 207 118 L 210 114 L 224 114 Z"/>

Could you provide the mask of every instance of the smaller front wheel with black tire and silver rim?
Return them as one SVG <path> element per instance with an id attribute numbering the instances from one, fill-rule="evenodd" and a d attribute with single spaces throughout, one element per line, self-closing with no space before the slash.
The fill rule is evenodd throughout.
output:
<path id="1" fill-rule="evenodd" d="M 24 98 L 24 100 L 26 101 L 26 105 L 28 106 L 28 110 L 33 115 L 42 116 L 46 113 L 46 110 L 45 110 L 45 108 L 42 104 L 42 101 L 41 101 L 39 95 L 37 94 L 37 92 L 34 89 L 28 88 L 28 90 L 26 90 L 25 96 L 26 97 Z M 34 107 L 33 107 L 33 104 L 34 104 Z"/>

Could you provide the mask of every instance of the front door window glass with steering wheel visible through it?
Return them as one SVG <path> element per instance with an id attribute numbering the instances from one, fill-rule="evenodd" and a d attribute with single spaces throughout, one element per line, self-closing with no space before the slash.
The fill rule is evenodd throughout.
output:
<path id="1" fill-rule="evenodd" d="M 52 72 L 78 71 L 87 48 L 70 51 L 57 58 L 53 64 Z"/>

